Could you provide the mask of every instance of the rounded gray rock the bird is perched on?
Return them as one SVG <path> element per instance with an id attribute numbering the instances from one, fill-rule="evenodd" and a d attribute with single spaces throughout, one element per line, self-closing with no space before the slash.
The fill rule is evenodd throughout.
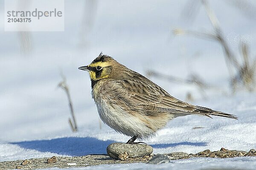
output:
<path id="1" fill-rule="evenodd" d="M 107 147 L 108 156 L 118 158 L 120 154 L 127 152 L 129 157 L 136 158 L 140 156 L 150 155 L 153 148 L 147 144 L 125 144 L 112 143 Z"/>

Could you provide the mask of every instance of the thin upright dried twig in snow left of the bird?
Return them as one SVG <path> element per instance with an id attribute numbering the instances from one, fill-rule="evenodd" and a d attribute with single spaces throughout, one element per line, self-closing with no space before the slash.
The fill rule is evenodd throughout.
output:
<path id="1" fill-rule="evenodd" d="M 72 129 L 73 132 L 76 132 L 78 131 L 78 127 L 77 127 L 77 124 L 76 124 L 76 117 L 75 117 L 75 113 L 74 113 L 74 110 L 73 110 L 73 104 L 71 102 L 71 97 L 70 97 L 70 92 L 69 92 L 69 88 L 67 86 L 67 82 L 66 82 L 66 78 L 64 77 L 64 75 L 61 75 L 62 77 L 62 82 L 60 82 L 58 84 L 58 87 L 62 88 L 66 94 L 67 94 L 67 98 L 68 98 L 68 102 L 69 102 L 69 107 L 70 107 L 70 112 L 71 112 L 71 116 L 73 118 L 73 122 L 71 121 L 71 119 L 69 118 L 69 124 L 70 124 L 70 127 Z"/>

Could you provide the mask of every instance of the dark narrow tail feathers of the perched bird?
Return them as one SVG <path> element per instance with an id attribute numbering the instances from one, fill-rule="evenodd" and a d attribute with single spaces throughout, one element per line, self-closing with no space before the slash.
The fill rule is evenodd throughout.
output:
<path id="1" fill-rule="evenodd" d="M 224 113 L 221 111 L 214 111 L 212 109 L 204 108 L 201 106 L 195 106 L 195 108 L 199 111 L 198 114 L 203 114 L 210 118 L 212 118 L 211 116 L 221 116 L 221 117 L 227 117 L 227 118 L 231 118 L 231 119 L 238 119 L 238 116 L 233 115 L 233 114 L 228 114 L 228 113 Z"/>

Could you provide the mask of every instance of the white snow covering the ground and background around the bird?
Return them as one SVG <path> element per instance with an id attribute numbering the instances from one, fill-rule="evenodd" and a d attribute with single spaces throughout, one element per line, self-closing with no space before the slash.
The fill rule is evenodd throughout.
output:
<path id="1" fill-rule="evenodd" d="M 3 15 L 3 2 L 0 1 L 0 15 Z M 190 92 L 195 98 L 193 104 L 239 116 L 239 120 L 202 116 L 176 118 L 155 137 L 143 141 L 154 148 L 154 153 L 197 153 L 221 147 L 256 149 L 256 93 L 239 91 L 231 95 L 229 74 L 218 43 L 172 35 L 172 28 L 177 27 L 211 31 L 204 8 L 197 10 L 193 22 L 186 22 L 180 16 L 186 6 L 183 0 L 179 3 L 169 0 L 94 2 L 94 12 L 86 13 L 90 9 L 89 1 L 65 1 L 65 31 L 30 32 L 33 49 L 28 56 L 20 52 L 19 33 L 4 32 L 3 17 L 0 17 L 0 161 L 106 153 L 108 144 L 127 142 L 128 136 L 106 125 L 100 129 L 99 116 L 90 96 L 89 76 L 77 69 L 89 64 L 100 51 L 143 75 L 149 69 L 184 79 L 197 73 L 221 91 L 207 90 L 203 97 L 194 85 L 150 79 L 178 99 L 185 100 Z M 210 1 L 210 5 L 229 45 L 237 49 L 242 38 L 251 47 L 250 55 L 255 57 L 255 16 L 247 17 L 225 2 Z M 83 17 L 87 14 L 93 17 L 90 28 L 83 23 L 87 21 Z M 83 28 L 87 31 L 83 32 Z M 239 55 L 240 51 L 235 53 Z M 70 117 L 67 96 L 57 88 L 61 71 L 70 88 L 79 126 L 77 133 L 71 132 L 67 122 Z M 160 165 L 117 164 L 83 169 L 211 167 L 255 169 L 256 158 L 193 158 Z"/>

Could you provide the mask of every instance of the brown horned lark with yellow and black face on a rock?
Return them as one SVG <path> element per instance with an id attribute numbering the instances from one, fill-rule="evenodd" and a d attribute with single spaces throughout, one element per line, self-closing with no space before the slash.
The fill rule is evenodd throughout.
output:
<path id="1" fill-rule="evenodd" d="M 91 94 L 99 117 L 113 130 L 131 136 L 127 144 L 154 136 L 167 122 L 179 116 L 238 119 L 236 115 L 176 99 L 148 78 L 102 52 L 89 65 L 78 69 L 90 74 Z"/>

